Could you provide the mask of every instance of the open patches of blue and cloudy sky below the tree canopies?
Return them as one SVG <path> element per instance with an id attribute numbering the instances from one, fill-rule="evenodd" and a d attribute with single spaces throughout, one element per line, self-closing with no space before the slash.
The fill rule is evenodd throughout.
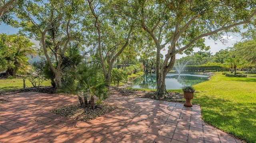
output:
<path id="1" fill-rule="evenodd" d="M 6 33 L 7 35 L 16 34 L 16 33 L 18 33 L 18 29 L 13 28 L 10 25 L 1 24 L 0 25 L 0 33 Z M 228 47 L 233 47 L 234 43 L 241 40 L 241 37 L 239 36 L 239 34 L 234 35 L 232 33 L 228 33 L 228 35 L 223 35 L 222 40 L 224 41 L 224 43 L 222 43 L 221 41 L 214 41 L 213 39 L 208 39 L 208 37 L 205 37 L 204 43 L 206 44 L 206 46 L 210 46 L 210 51 L 211 51 L 211 53 L 213 53 L 212 55 L 214 55 L 216 52 L 220 51 L 221 49 L 227 49 Z M 33 39 L 31 40 L 31 42 L 35 43 L 36 45 L 39 45 Z M 197 52 L 197 51 L 200 51 L 200 49 L 194 48 L 194 52 Z M 161 51 L 161 53 L 163 55 L 166 55 L 167 50 Z M 186 57 L 186 54 L 183 54 L 183 55 L 177 54 L 176 55 L 176 59 L 180 59 L 182 57 Z"/>

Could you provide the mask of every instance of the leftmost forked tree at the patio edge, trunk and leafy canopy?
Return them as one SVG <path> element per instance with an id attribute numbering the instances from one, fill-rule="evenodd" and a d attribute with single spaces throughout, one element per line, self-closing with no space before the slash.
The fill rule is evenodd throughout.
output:
<path id="1" fill-rule="evenodd" d="M 80 40 L 80 17 L 82 0 L 24 0 L 18 3 L 17 17 L 20 26 L 30 36 L 41 42 L 46 60 L 54 72 L 56 88 L 62 85 L 63 59 L 71 41 Z M 52 62 L 48 51 L 54 56 Z M 56 64 L 56 67 L 54 66 Z"/>

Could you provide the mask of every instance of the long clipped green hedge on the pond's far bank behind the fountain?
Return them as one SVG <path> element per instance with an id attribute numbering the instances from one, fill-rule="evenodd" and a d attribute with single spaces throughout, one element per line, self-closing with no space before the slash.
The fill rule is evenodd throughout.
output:
<path id="1" fill-rule="evenodd" d="M 177 66 L 183 67 L 183 66 Z M 172 70 L 176 70 L 176 67 L 173 67 Z M 182 71 L 228 71 L 229 69 L 222 66 L 184 66 Z"/>

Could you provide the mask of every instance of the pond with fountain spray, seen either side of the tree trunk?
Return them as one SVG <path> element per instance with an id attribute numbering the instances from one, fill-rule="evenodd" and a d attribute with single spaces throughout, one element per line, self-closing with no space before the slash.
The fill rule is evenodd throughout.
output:
<path id="1" fill-rule="evenodd" d="M 166 89 L 181 89 L 183 84 L 195 85 L 207 81 L 208 74 L 174 74 L 168 73 L 165 78 Z M 156 74 L 145 73 L 132 80 L 129 88 L 156 89 Z"/>

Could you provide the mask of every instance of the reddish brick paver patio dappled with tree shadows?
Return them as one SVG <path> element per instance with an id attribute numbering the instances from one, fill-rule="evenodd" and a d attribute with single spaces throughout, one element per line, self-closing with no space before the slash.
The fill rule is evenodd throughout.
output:
<path id="1" fill-rule="evenodd" d="M 76 96 L 25 92 L 0 96 L 2 143 L 242 143 L 201 118 L 200 106 L 128 96 L 105 102 L 121 107 L 89 123 L 49 110 L 78 103 Z"/>

